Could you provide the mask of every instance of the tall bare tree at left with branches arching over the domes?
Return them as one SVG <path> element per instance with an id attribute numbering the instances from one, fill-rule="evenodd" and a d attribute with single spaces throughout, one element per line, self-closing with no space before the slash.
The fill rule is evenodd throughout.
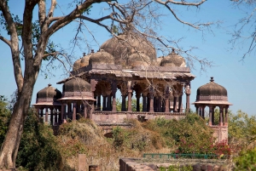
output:
<path id="1" fill-rule="evenodd" d="M 8 37 L 0 35 L 0 40 L 6 43 L 12 54 L 15 82 L 17 85 L 18 98 L 14 106 L 12 117 L 9 123 L 9 130 L 0 151 L 0 168 L 15 168 L 15 158 L 20 145 L 20 138 L 29 109 L 34 84 L 38 78 L 38 73 L 42 67 L 43 61 L 60 60 L 60 56 L 65 53 L 56 51 L 52 48 L 53 43 L 49 38 L 61 28 L 71 22 L 79 22 L 80 27 L 84 26 L 89 29 L 86 22 L 102 26 L 113 36 L 117 36 L 119 31 L 133 30 L 137 31 L 143 37 L 155 39 L 166 48 L 173 48 L 170 41 L 165 37 L 160 37 L 155 31 L 155 25 L 161 17 L 160 11 L 167 9 L 170 14 L 184 25 L 190 26 L 196 30 L 202 30 L 212 23 L 190 23 L 182 20 L 176 14 L 175 6 L 195 7 L 198 8 L 206 0 L 194 1 L 150 1 L 150 0 L 132 0 L 129 3 L 118 3 L 110 0 L 73 0 L 70 1 L 70 8 L 73 9 L 69 14 L 55 16 L 57 1 L 51 0 L 48 4 L 46 0 L 26 0 L 22 19 L 13 15 L 9 10 L 9 1 L 0 0 L 1 11 L 1 29 L 8 32 Z M 61 2 L 62 3 L 62 2 Z M 90 10 L 97 10 L 92 7 L 96 3 L 106 3 L 108 14 L 101 18 L 90 18 Z M 33 15 L 38 7 L 38 19 Z M 59 8 L 60 9 L 60 8 Z M 142 22 L 143 21 L 143 22 Z M 2 33 L 2 31 L 1 31 Z M 21 46 L 21 47 L 20 47 Z M 187 51 L 183 51 L 188 53 Z M 64 55 L 66 56 L 66 54 Z M 204 65 L 204 60 L 190 56 L 191 59 L 197 60 Z M 20 59 L 24 60 L 25 68 L 22 70 Z"/>

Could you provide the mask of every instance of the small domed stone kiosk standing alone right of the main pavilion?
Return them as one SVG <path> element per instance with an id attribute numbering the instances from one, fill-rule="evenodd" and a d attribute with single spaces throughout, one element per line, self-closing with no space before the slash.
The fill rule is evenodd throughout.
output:
<path id="1" fill-rule="evenodd" d="M 213 77 L 211 77 L 210 83 L 197 89 L 196 100 L 193 104 L 197 114 L 202 118 L 205 118 L 205 108 L 209 107 L 208 126 L 214 130 L 213 136 L 217 138 L 217 142 L 228 140 L 228 110 L 232 104 L 228 101 L 226 88 L 214 83 Z M 215 121 L 214 110 L 216 107 L 219 108 L 218 121 Z"/>

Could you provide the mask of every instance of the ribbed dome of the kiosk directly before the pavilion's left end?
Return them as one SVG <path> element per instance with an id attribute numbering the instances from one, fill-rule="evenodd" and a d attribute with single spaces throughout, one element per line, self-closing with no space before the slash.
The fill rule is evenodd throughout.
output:
<path id="1" fill-rule="evenodd" d="M 74 77 L 63 85 L 63 93 L 66 92 L 90 92 L 90 83 L 80 77 Z"/>

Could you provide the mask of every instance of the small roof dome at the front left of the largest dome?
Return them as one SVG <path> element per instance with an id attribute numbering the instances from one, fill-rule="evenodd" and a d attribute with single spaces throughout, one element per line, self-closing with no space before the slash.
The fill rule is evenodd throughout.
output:
<path id="1" fill-rule="evenodd" d="M 91 54 L 89 64 L 114 64 L 113 55 L 101 49 L 99 52 Z"/>

